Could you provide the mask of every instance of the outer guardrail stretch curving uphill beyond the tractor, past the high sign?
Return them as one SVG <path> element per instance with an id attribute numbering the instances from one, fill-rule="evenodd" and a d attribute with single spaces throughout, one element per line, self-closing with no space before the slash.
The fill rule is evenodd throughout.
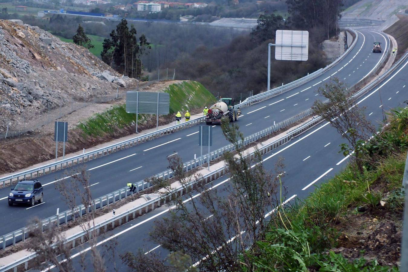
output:
<path id="1" fill-rule="evenodd" d="M 241 102 L 241 105 L 245 104 L 245 105 L 249 106 L 251 104 L 255 104 L 255 103 L 261 102 L 263 100 L 266 100 L 268 98 L 274 97 L 276 95 L 280 95 L 280 94 L 282 94 L 282 93 L 284 93 L 286 91 L 290 91 L 291 89 L 304 84 L 305 82 L 313 80 L 314 78 L 318 77 L 319 75 L 322 75 L 322 73 L 328 71 L 330 68 L 335 66 L 339 61 L 341 61 L 351 51 L 351 49 L 353 49 L 353 47 L 357 43 L 357 39 L 358 39 L 357 31 L 354 31 L 353 29 L 347 29 L 347 30 L 352 31 L 355 34 L 355 39 L 350 44 L 350 47 L 343 54 L 341 54 L 341 56 L 339 56 L 334 62 L 330 63 L 328 66 L 326 66 L 326 67 L 324 67 L 322 69 L 319 69 L 319 70 L 311 73 L 310 75 L 306 75 L 305 77 L 299 78 L 298 80 L 295 80 L 295 81 L 290 82 L 288 84 L 285 84 L 283 86 L 274 88 L 274 89 L 272 89 L 270 91 L 266 91 L 264 93 L 259 93 L 257 95 L 248 97 L 246 100 Z"/>

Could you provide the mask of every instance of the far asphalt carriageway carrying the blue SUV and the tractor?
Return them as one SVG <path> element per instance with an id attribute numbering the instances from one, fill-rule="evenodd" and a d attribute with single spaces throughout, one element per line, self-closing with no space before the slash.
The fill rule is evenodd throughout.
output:
<path id="1" fill-rule="evenodd" d="M 384 34 L 374 31 L 359 31 L 355 47 L 348 55 L 332 69 L 323 75 L 294 88 L 286 93 L 242 109 L 238 124 L 242 133 L 247 136 L 259 130 L 280 122 L 299 112 L 310 108 L 319 98 L 315 90 L 320 84 L 328 82 L 330 77 L 338 77 L 348 86 L 359 82 L 379 63 L 383 53 L 372 53 L 373 42 L 380 41 L 388 47 Z M 273 75 L 272 75 L 273 76 Z M 155 175 L 168 167 L 168 157 L 177 154 L 183 161 L 200 156 L 198 146 L 198 127 L 191 127 L 165 137 L 161 137 L 109 156 L 89 161 L 85 164 L 90 174 L 90 184 L 93 197 L 100 197 L 109 192 L 126 186 L 128 182 L 137 182 Z M 211 150 L 225 146 L 228 142 L 222 135 L 220 126 L 213 130 L 213 146 Z M 204 148 L 205 149 L 205 148 Z M 305 156 L 306 157 L 306 156 Z M 287 159 L 289 162 L 290 160 Z M 77 173 L 78 167 L 69 168 L 69 174 L 58 171 L 40 177 L 44 186 L 44 203 L 29 208 L 23 205 L 7 205 L 10 188 L 0 189 L 0 235 L 7 234 L 27 225 L 33 217 L 47 218 L 56 214 L 57 208 L 64 211 L 67 207 L 55 190 L 55 183 L 72 173 Z"/>

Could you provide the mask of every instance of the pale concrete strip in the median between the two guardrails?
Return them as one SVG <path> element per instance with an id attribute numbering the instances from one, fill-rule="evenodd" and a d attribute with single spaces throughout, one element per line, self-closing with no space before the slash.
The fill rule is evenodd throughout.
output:
<path id="1" fill-rule="evenodd" d="M 314 122 L 313 122 L 314 121 Z M 292 137 L 295 137 L 296 135 L 298 135 L 299 133 L 302 133 L 304 130 L 307 130 L 313 126 L 315 126 L 317 123 L 321 122 L 321 119 L 313 119 L 313 118 L 309 118 L 306 121 L 302 122 L 302 124 L 299 124 L 293 128 L 290 128 L 291 131 L 297 130 L 297 132 L 293 133 L 292 135 L 288 135 L 288 130 L 283 131 L 282 133 L 280 133 L 279 135 L 276 135 L 275 137 L 272 137 L 270 139 L 267 139 L 264 142 L 261 142 L 259 144 L 256 145 L 256 147 L 259 149 L 259 152 L 261 154 L 265 154 L 270 152 L 271 150 L 277 148 L 278 146 L 288 142 Z M 306 126 L 305 126 L 306 125 Z M 303 128 L 302 128 L 303 126 Z M 300 129 L 299 129 L 300 128 Z M 279 141 L 277 141 L 279 140 Z M 274 143 L 275 142 L 275 143 Z M 273 144 L 274 143 L 274 144 Z M 271 145 L 272 144 L 272 145 Z M 255 151 L 255 146 L 248 148 L 246 150 L 244 150 L 244 155 L 247 156 L 251 156 L 251 159 L 254 158 L 253 152 Z M 210 171 L 208 171 L 207 168 L 203 168 L 201 170 L 199 170 L 198 172 L 195 173 L 195 175 L 199 175 L 199 176 L 203 176 L 205 177 L 205 179 L 203 179 L 201 182 L 204 183 L 208 183 L 213 181 L 214 179 L 220 178 L 223 175 L 225 175 L 226 173 L 228 173 L 228 169 L 226 169 L 225 166 L 225 162 L 224 161 L 220 161 L 217 164 L 213 164 L 210 166 Z M 178 188 L 180 187 L 180 182 L 179 181 L 175 181 L 171 184 L 171 188 Z M 193 186 L 191 186 L 191 189 L 193 188 Z M 158 192 L 152 193 L 152 194 L 148 194 L 148 195 L 143 195 L 140 196 L 140 198 L 135 199 L 134 201 L 131 201 L 129 203 L 126 203 L 125 205 L 115 209 L 115 212 L 117 214 L 123 214 L 122 217 L 116 219 L 115 221 L 113 221 L 109 226 L 105 225 L 103 227 L 103 229 L 98 229 L 97 233 L 105 233 L 113 228 L 115 228 L 115 226 L 120 226 L 122 225 L 122 222 L 128 222 L 130 220 L 135 219 L 136 217 L 149 212 L 151 210 L 154 210 L 157 207 L 160 207 L 164 204 L 166 204 L 166 202 L 169 202 L 171 199 L 170 197 L 164 197 L 162 199 L 157 199 L 157 201 L 153 202 L 151 205 L 149 204 L 149 206 L 143 207 L 142 209 L 133 212 L 131 214 L 126 214 L 126 211 L 132 210 L 134 208 L 137 208 L 137 206 L 141 206 L 143 203 L 146 203 L 146 199 L 149 199 L 151 197 L 157 197 L 157 193 L 162 193 L 164 192 L 164 189 L 160 189 Z M 185 191 L 184 191 L 185 192 Z M 180 190 L 179 195 L 183 195 L 183 190 Z M 98 225 L 99 223 L 102 223 L 106 220 L 111 219 L 112 217 L 114 217 L 111 213 L 109 214 L 105 214 L 102 215 L 100 217 L 95 218 L 95 225 Z M 91 224 L 93 225 L 93 223 Z M 75 226 L 73 228 L 70 228 L 69 230 L 66 230 L 63 232 L 63 237 L 72 237 L 74 234 L 77 234 L 79 232 L 82 231 L 82 228 L 80 226 Z M 71 241 L 72 242 L 72 247 L 75 247 L 76 245 L 83 243 L 84 239 L 74 239 Z M 86 241 L 85 241 L 86 242 Z M 9 256 L 6 257 L 2 257 L 0 258 L 0 267 L 3 265 L 8 265 L 9 263 L 13 263 L 14 261 L 20 260 L 22 259 L 24 256 L 27 256 L 31 254 L 29 251 L 27 250 L 22 250 L 13 254 L 10 254 Z M 25 266 L 27 267 L 27 264 L 25 264 Z M 0 271 L 1 268 L 0 268 Z"/>

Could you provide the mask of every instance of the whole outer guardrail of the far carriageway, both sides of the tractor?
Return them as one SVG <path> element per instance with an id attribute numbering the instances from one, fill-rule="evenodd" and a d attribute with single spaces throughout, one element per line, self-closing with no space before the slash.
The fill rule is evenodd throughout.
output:
<path id="1" fill-rule="evenodd" d="M 353 31 L 353 30 L 350 30 L 350 31 Z M 335 65 L 337 62 L 339 62 L 342 58 L 344 58 L 346 56 L 346 54 L 348 52 L 350 52 L 350 50 L 355 45 L 355 43 L 357 42 L 358 35 L 357 35 L 357 32 L 355 32 L 355 31 L 353 31 L 353 32 L 355 33 L 356 38 L 353 41 L 353 43 L 350 45 L 349 50 L 344 52 L 337 60 L 335 60 L 333 63 L 331 63 L 327 67 L 325 67 L 323 69 L 319 69 L 319 70 L 315 71 L 314 73 L 311 73 L 310 75 L 302 77 L 299 80 L 295 80 L 294 82 L 288 83 L 288 84 L 286 84 L 284 86 L 280 86 L 278 88 L 272 89 L 272 90 L 267 91 L 265 93 L 260 93 L 258 95 L 254 95 L 254 96 L 244 100 L 244 102 L 238 104 L 237 106 L 244 108 L 246 106 L 250 106 L 250 105 L 255 104 L 257 102 L 260 102 L 260 101 L 266 100 L 268 98 L 271 98 L 271 97 L 273 97 L 275 95 L 279 95 L 281 93 L 284 93 L 286 91 L 291 90 L 292 88 L 295 88 L 296 86 L 299 86 L 299 85 L 303 84 L 304 82 L 312 80 L 313 78 L 315 78 L 318 75 L 322 74 L 324 71 L 327 71 L 333 65 Z M 55 171 L 60 170 L 60 169 L 68 168 L 70 166 L 74 166 L 74 165 L 89 161 L 90 159 L 96 159 L 98 157 L 103 157 L 105 155 L 109 155 L 110 153 L 116 152 L 118 150 L 122 150 L 124 148 L 129 148 L 131 146 L 135 146 L 137 144 L 144 143 L 144 142 L 149 141 L 151 139 L 156 139 L 158 137 L 162 137 L 164 135 L 173 133 L 175 131 L 179 131 L 179 130 L 194 126 L 194 125 L 199 124 L 200 122 L 203 122 L 203 121 L 204 121 L 204 117 L 200 117 L 200 118 L 188 121 L 188 122 L 184 122 L 182 124 L 176 124 L 174 126 L 171 126 L 171 127 L 168 127 L 168 128 L 162 128 L 162 129 L 157 130 L 155 132 L 151 132 L 151 133 L 148 133 L 148 134 L 145 134 L 145 135 L 137 136 L 135 138 L 128 139 L 128 140 L 120 142 L 120 143 L 112 144 L 112 145 L 106 146 L 104 148 L 99 148 L 97 150 L 89 151 L 89 152 L 84 153 L 84 154 L 69 157 L 67 159 L 62 159 L 60 161 L 56 161 L 56 162 L 53 162 L 51 164 L 47 164 L 47 165 L 40 166 L 40 167 L 37 167 L 37 168 L 31 168 L 31 169 L 26 170 L 26 171 L 14 173 L 14 174 L 8 175 L 6 177 L 0 178 L 0 184 L 2 184 L 3 187 L 5 187 L 5 186 L 12 185 L 13 182 L 17 183 L 20 179 L 24 179 L 24 178 L 27 178 L 27 177 L 28 178 L 39 177 L 40 175 L 45 175 L 47 173 L 55 172 Z"/>

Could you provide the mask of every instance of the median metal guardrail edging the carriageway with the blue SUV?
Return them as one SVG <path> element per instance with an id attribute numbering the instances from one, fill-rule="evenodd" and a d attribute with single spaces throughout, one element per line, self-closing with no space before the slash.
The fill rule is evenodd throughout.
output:
<path id="1" fill-rule="evenodd" d="M 293 124 L 304 117 L 310 115 L 312 113 L 311 109 L 308 109 L 302 113 L 299 113 L 293 117 L 290 117 L 282 122 L 279 122 L 278 124 L 275 124 L 274 126 L 270 126 L 268 128 L 265 128 L 263 130 L 258 131 L 257 133 L 253 133 L 247 137 L 244 138 L 244 142 L 239 143 L 239 147 L 241 146 L 246 146 L 248 144 L 251 144 L 258 139 L 261 139 L 262 137 L 266 137 L 268 135 L 271 135 L 275 131 L 284 128 L 290 124 Z M 226 152 L 231 152 L 235 150 L 235 146 L 233 144 L 228 144 L 226 146 L 223 146 L 221 148 L 218 148 L 217 150 L 214 150 L 210 152 L 209 154 L 202 155 L 196 159 L 192 159 L 190 161 L 187 161 L 184 163 L 184 171 L 188 172 L 190 170 L 193 170 L 194 168 L 197 168 L 198 166 L 201 166 L 205 163 L 208 163 L 208 161 L 215 160 L 222 155 L 224 155 Z M 159 179 L 171 179 L 173 177 L 173 171 L 172 170 L 165 170 L 154 177 L 159 178 Z M 149 189 L 152 184 L 149 182 L 146 182 L 145 180 L 141 180 L 137 183 L 135 183 L 136 186 L 136 191 L 135 193 L 142 192 L 144 190 Z M 124 187 L 119 190 L 115 190 L 114 192 L 111 192 L 109 194 L 106 194 L 102 197 L 98 197 L 93 199 L 92 201 L 92 207 L 88 207 L 88 209 L 93 209 L 93 210 L 98 210 L 98 209 L 103 209 L 104 207 L 109 207 L 111 204 L 115 204 L 117 201 L 122 201 L 122 199 L 125 199 L 129 196 L 129 187 Z M 130 193 L 130 195 L 133 195 L 133 192 Z M 48 217 L 46 219 L 42 219 L 42 230 L 47 230 L 48 226 L 51 225 L 51 223 L 56 223 L 57 226 L 60 226 L 60 224 L 66 224 L 68 221 L 75 221 L 75 217 L 82 217 L 86 212 L 86 207 L 84 205 L 77 206 L 74 211 L 72 210 L 66 210 L 64 212 L 59 213 L 58 215 L 53 215 L 51 217 Z M 20 241 L 25 241 L 28 235 L 28 227 L 20 228 L 19 230 L 10 232 L 8 234 L 3 235 L 0 237 L 0 245 L 2 245 L 3 250 L 5 250 L 8 246 L 11 245 L 16 245 L 16 243 Z M 7 244 L 7 241 L 10 241 L 12 243 Z"/>

